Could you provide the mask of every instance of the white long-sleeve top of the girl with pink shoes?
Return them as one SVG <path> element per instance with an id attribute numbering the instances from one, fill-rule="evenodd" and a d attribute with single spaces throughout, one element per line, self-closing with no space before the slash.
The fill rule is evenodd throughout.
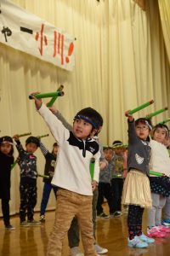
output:
<path id="1" fill-rule="evenodd" d="M 167 152 L 167 148 L 162 143 L 158 143 L 154 140 L 150 141 L 151 158 L 150 169 L 154 172 L 165 173 L 170 176 L 170 158 Z M 150 175 L 153 176 L 153 175 Z"/>

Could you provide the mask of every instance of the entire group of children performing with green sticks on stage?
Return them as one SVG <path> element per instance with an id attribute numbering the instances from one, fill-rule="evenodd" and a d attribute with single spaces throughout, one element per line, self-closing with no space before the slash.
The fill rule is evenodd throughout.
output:
<path id="1" fill-rule="evenodd" d="M 34 100 L 38 113 L 58 143 L 54 143 L 53 151 L 49 153 L 37 137 L 28 137 L 24 150 L 19 137 L 14 136 L 20 165 L 20 224 L 39 224 L 33 218 L 33 213 L 37 203 L 37 158 L 34 152 L 40 147 L 46 159 L 45 174 L 50 177 L 44 178 L 41 221 L 45 220 L 51 189 L 54 189 L 54 195 L 57 196 L 54 228 L 48 239 L 47 255 L 61 255 L 62 242 L 67 232 L 71 255 L 94 256 L 107 253 L 108 250 L 99 247 L 95 240 L 96 210 L 99 217 L 107 217 L 102 208 L 104 197 L 108 201 L 112 217 L 121 216 L 121 204 L 128 206 L 129 247 L 148 247 L 149 243 L 155 241 L 155 237 L 165 237 L 170 232 L 166 226 L 170 220 L 170 158 L 167 145 L 165 146 L 169 137 L 167 125 L 156 125 L 152 129 L 149 119 L 134 121 L 133 116 L 127 112 L 126 166 L 122 149 L 117 147 L 122 142 L 113 143 L 115 154 L 112 147 L 104 148 L 103 154 L 96 139 L 103 119 L 94 108 L 83 108 L 75 115 L 73 125 L 68 125 L 59 113 L 54 112 L 54 108 L 47 108 L 36 96 Z M 0 165 L 3 166 L 0 172 L 0 198 L 4 224 L 9 230 L 14 229 L 9 221 L 8 206 L 10 170 L 14 163 L 13 144 L 11 137 L 0 139 Z M 92 158 L 95 160 L 93 179 L 89 172 Z M 162 176 L 157 177 L 157 172 L 161 172 Z M 163 207 L 165 213 L 162 226 Z M 142 231 L 144 208 L 148 208 L 147 236 Z M 84 254 L 79 250 L 79 228 Z"/>

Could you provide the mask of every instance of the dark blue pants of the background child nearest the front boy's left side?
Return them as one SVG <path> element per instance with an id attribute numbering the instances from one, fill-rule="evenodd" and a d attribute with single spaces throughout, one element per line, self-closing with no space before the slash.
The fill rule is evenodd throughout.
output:
<path id="1" fill-rule="evenodd" d="M 53 186 L 51 183 L 44 183 L 43 186 L 43 192 L 42 192 L 42 202 L 41 202 L 41 211 L 40 215 L 45 214 L 46 207 L 48 205 L 49 195 L 51 193 L 51 189 L 54 190 L 55 198 L 57 199 L 56 192 L 58 190 L 58 187 Z"/>

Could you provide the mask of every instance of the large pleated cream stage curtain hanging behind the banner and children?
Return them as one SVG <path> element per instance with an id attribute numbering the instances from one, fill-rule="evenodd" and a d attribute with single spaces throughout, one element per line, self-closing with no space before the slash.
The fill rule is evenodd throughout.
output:
<path id="1" fill-rule="evenodd" d="M 135 118 L 158 108 L 170 107 L 169 66 L 156 1 L 147 1 L 144 12 L 133 0 L 14 0 L 20 7 L 61 27 L 76 40 L 76 66 L 66 72 L 0 44 L 0 135 L 31 131 L 48 133 L 48 128 L 28 99 L 32 91 L 48 92 L 65 85 L 65 96 L 55 107 L 72 122 L 75 113 L 91 106 L 104 117 L 100 139 L 111 144 L 127 143 L 124 111 L 155 99 L 155 105 L 135 114 Z M 153 121 L 161 121 L 167 113 Z M 21 138 L 23 145 L 26 137 Z M 54 138 L 42 138 L 51 151 Z M 44 159 L 37 150 L 38 172 Z M 17 156 L 15 150 L 14 156 Z M 12 171 L 11 213 L 19 212 L 20 171 Z M 42 179 L 37 180 L 39 210 Z M 54 195 L 48 209 L 54 208 Z"/>

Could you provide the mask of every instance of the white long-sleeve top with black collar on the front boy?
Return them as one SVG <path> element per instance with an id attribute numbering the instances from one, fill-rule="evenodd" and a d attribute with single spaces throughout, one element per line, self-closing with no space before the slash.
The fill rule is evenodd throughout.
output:
<path id="1" fill-rule="evenodd" d="M 82 141 L 74 137 L 44 104 L 38 112 L 59 143 L 52 184 L 81 195 L 93 195 L 89 165 L 94 157 L 94 180 L 99 182 L 99 144 L 91 138 Z"/>

